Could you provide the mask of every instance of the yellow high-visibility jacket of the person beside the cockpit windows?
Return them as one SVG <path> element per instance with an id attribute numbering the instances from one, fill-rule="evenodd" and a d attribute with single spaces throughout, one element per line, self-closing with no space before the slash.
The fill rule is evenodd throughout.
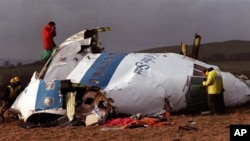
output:
<path id="1" fill-rule="evenodd" d="M 223 89 L 222 77 L 215 70 L 212 70 L 207 72 L 207 80 L 202 85 L 207 86 L 208 94 L 220 94 Z"/>

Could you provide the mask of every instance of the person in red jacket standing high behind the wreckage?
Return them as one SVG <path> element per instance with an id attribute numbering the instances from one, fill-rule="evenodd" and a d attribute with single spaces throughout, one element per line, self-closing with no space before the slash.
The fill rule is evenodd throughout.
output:
<path id="1" fill-rule="evenodd" d="M 56 47 L 54 42 L 54 37 L 56 36 L 56 23 L 50 21 L 48 24 L 46 24 L 43 28 L 42 35 L 43 47 L 45 50 L 41 52 L 41 59 L 46 61 L 51 56 L 53 49 Z"/>

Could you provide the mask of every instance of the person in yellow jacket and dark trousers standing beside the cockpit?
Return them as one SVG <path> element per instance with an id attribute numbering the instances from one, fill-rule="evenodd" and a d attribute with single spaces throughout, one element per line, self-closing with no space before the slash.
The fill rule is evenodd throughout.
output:
<path id="1" fill-rule="evenodd" d="M 207 87 L 210 110 L 212 113 L 221 114 L 225 111 L 223 98 L 223 80 L 213 68 L 209 68 L 206 72 L 207 79 L 202 82 Z"/>

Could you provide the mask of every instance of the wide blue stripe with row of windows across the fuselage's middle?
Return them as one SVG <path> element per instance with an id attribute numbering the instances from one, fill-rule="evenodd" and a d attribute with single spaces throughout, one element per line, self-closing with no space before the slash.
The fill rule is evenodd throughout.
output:
<path id="1" fill-rule="evenodd" d="M 80 83 L 104 89 L 126 55 L 127 53 L 102 53 L 85 73 Z"/>

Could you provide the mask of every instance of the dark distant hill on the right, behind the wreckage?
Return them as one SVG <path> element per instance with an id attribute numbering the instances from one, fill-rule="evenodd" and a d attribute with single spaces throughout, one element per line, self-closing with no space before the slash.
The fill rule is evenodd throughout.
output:
<path id="1" fill-rule="evenodd" d="M 201 40 L 202 42 L 202 40 Z M 191 53 L 193 45 L 188 45 Z M 174 52 L 179 53 L 179 46 L 157 47 L 138 52 Z M 225 42 L 214 42 L 200 45 L 199 60 L 202 61 L 247 61 L 250 60 L 250 41 L 231 40 Z"/>

